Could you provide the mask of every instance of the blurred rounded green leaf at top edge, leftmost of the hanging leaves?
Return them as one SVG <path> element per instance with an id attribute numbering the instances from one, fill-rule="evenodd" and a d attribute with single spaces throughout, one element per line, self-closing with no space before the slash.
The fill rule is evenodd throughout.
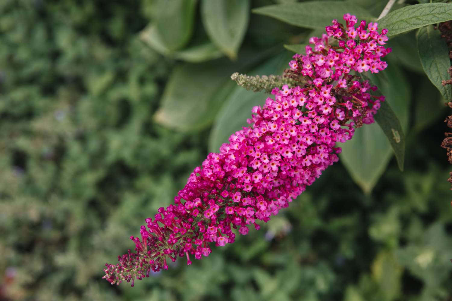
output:
<path id="1" fill-rule="evenodd" d="M 163 44 L 171 51 L 184 47 L 193 32 L 198 0 L 159 0 L 155 27 Z"/>

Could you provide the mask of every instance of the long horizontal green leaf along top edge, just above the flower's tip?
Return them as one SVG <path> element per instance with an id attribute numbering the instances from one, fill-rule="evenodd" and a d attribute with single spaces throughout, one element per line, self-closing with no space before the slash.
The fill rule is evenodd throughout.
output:
<path id="1" fill-rule="evenodd" d="M 305 28 L 323 28 L 331 24 L 331 20 L 342 20 L 344 14 L 350 13 L 358 19 L 373 20 L 366 9 L 343 1 L 308 1 L 295 4 L 268 5 L 252 10 L 282 22 Z"/>

